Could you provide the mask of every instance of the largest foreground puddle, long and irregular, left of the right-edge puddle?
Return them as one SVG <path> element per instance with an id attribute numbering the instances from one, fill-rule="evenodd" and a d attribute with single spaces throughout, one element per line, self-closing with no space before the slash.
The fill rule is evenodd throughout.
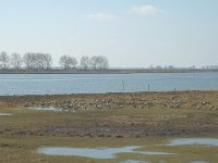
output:
<path id="1" fill-rule="evenodd" d="M 173 154 L 173 153 L 167 153 L 167 152 L 135 151 L 138 148 L 141 147 L 130 146 L 130 147 L 123 147 L 123 148 L 99 148 L 99 149 L 49 147 L 49 148 L 40 148 L 37 150 L 37 152 L 41 154 L 48 154 L 48 155 L 77 155 L 77 156 L 86 156 L 86 158 L 93 158 L 93 159 L 114 159 L 116 154 L 119 154 L 119 153 L 136 153 L 136 154 L 146 154 L 146 155 Z"/>

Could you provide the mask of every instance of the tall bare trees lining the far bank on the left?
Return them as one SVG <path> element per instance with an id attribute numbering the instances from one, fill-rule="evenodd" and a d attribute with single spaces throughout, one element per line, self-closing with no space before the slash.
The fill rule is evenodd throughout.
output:
<path id="1" fill-rule="evenodd" d="M 76 58 L 61 55 L 59 64 L 63 70 L 108 70 L 109 62 L 106 57 L 82 57 L 80 63 Z M 0 53 L 1 70 L 51 70 L 52 57 L 49 53 L 27 52 L 24 55 L 7 52 Z"/>

